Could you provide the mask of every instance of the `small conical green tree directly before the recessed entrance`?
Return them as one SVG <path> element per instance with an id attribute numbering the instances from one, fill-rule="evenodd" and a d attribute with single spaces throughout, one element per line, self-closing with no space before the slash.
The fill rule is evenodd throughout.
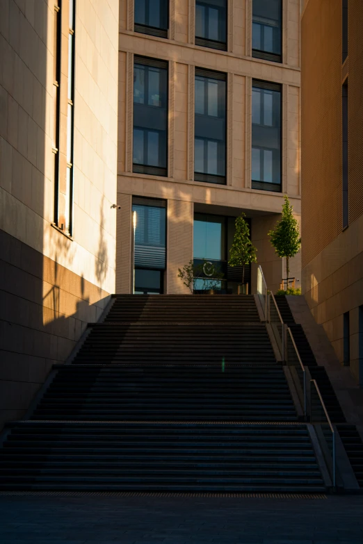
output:
<path id="1" fill-rule="evenodd" d="M 242 266 L 242 285 L 245 281 L 245 265 L 257 261 L 257 249 L 250 240 L 250 227 L 245 220 L 245 213 L 236 218 L 233 244 L 229 250 L 229 266 Z"/>

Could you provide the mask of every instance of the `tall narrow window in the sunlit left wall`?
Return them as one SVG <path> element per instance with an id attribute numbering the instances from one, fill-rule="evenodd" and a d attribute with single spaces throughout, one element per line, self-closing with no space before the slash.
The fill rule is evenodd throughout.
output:
<path id="1" fill-rule="evenodd" d="M 75 0 L 69 0 L 67 18 L 63 18 L 61 9 L 61 0 L 56 0 L 54 4 L 54 224 L 66 234 L 72 235 Z M 63 24 L 67 25 L 67 32 L 63 32 Z M 63 40 L 68 41 L 66 110 L 63 110 L 60 101 L 61 88 L 64 85 L 61 74 Z M 65 149 L 60 149 L 61 133 L 66 134 Z"/>

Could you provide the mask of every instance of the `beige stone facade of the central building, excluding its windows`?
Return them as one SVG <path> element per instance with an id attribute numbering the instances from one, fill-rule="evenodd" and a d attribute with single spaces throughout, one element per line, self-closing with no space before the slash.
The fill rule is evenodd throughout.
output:
<path id="1" fill-rule="evenodd" d="M 252 218 L 252 238 L 259 249 L 268 286 L 275 291 L 285 276 L 284 263 L 268 242 L 267 231 L 280 217 L 282 194 L 289 195 L 300 218 L 300 1 L 282 2 L 282 63 L 252 57 L 252 3 L 229 0 L 227 51 L 195 44 L 195 1 L 170 0 L 169 38 L 134 32 L 134 1 L 120 1 L 118 198 L 125 195 L 166 199 L 179 257 L 168 241 L 166 292 L 184 288 L 175 276 L 177 268 L 193 258 L 193 208 L 209 213 Z M 132 172 L 134 55 L 167 60 L 168 175 Z M 194 74 L 195 68 L 227 74 L 226 185 L 194 180 Z M 251 188 L 252 79 L 282 85 L 282 192 Z M 131 202 L 131 201 L 130 201 Z M 124 210 L 124 214 L 127 214 Z M 177 220 L 173 213 L 179 213 Z M 132 268 L 130 226 L 118 214 L 120 238 L 116 277 L 121 292 L 130 292 L 121 276 Z M 176 223 L 179 234 L 175 232 Z M 126 240 L 123 242 L 123 240 Z M 127 263 L 124 261 L 125 255 Z M 130 272 L 131 273 L 131 272 Z M 300 286 L 300 254 L 291 260 L 291 273 Z M 253 272 L 252 272 L 253 276 Z M 253 282 L 252 280 L 252 286 Z M 180 284 L 179 284 L 180 283 Z"/>

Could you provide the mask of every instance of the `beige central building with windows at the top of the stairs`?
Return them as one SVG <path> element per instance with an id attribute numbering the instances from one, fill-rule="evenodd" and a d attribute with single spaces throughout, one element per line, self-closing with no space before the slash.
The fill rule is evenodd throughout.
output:
<path id="1" fill-rule="evenodd" d="M 297 0 L 120 1 L 117 292 L 188 292 L 178 268 L 203 259 L 236 292 L 241 212 L 279 288 L 267 233 L 283 193 L 300 217 L 299 33 Z M 299 285 L 300 256 L 290 275 Z M 255 277 L 246 267 L 250 292 Z"/>

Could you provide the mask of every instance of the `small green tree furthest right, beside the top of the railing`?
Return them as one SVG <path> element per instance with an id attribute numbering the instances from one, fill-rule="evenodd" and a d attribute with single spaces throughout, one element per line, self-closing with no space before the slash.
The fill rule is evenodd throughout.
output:
<path id="1" fill-rule="evenodd" d="M 268 233 L 275 252 L 281 258 L 286 257 L 286 272 L 289 278 L 289 258 L 295 256 L 301 247 L 301 238 L 298 222 L 293 217 L 293 207 L 290 206 L 289 198 L 284 195 L 282 204 L 282 217 L 277 222 L 275 229 Z M 288 280 L 289 283 L 289 280 Z"/>

